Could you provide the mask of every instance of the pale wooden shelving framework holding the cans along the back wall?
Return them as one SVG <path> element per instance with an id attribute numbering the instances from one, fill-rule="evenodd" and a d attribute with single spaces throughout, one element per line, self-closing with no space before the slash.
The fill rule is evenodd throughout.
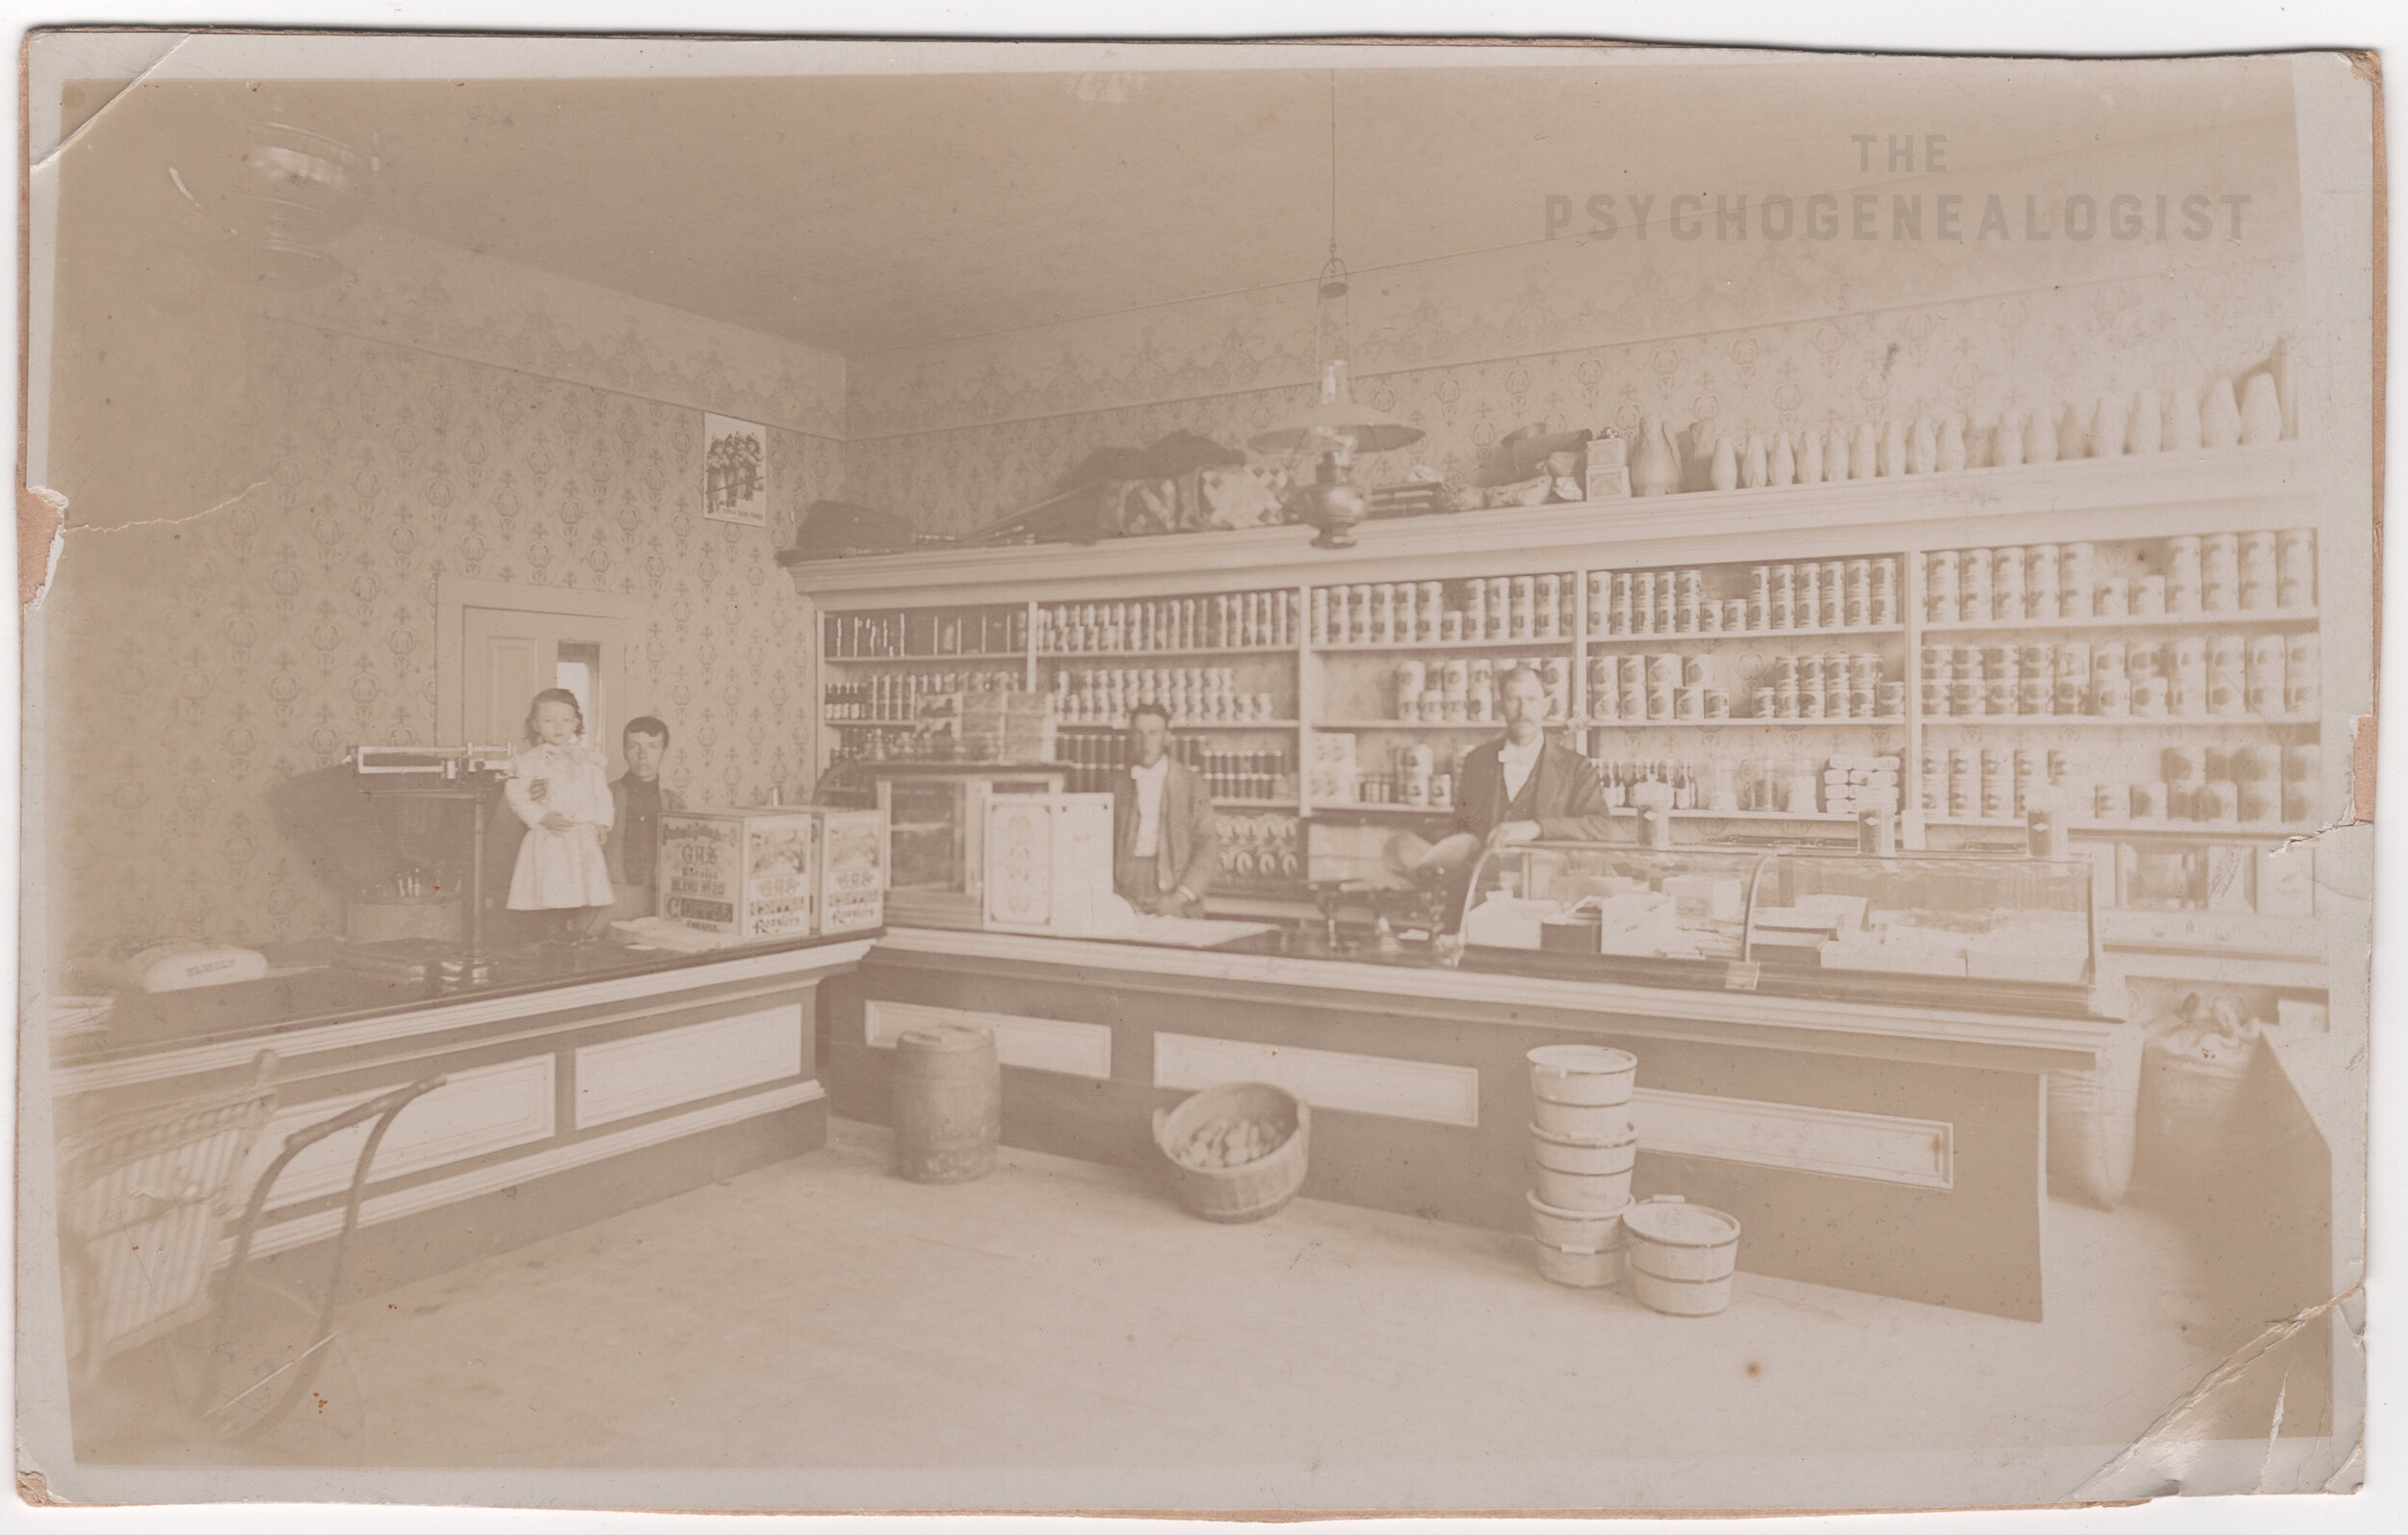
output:
<path id="1" fill-rule="evenodd" d="M 1442 751 L 1498 734 L 1495 722 L 1406 722 L 1385 717 L 1392 707 L 1385 678 L 1394 666 L 1421 659 L 1517 659 L 1544 657 L 1565 662 L 1570 710 L 1551 724 L 1584 746 L 1589 755 L 1613 758 L 1616 746 L 1630 758 L 1678 755 L 1695 739 L 1729 748 L 1741 739 L 1765 739 L 1775 755 L 1813 758 L 1820 753 L 1895 753 L 1902 765 L 1905 828 L 1929 847 L 1996 844 L 1996 832 L 2018 830 L 2011 818 L 1924 816 L 1919 808 L 1919 768 L 1926 743 L 2064 748 L 2078 755 L 2138 760 L 2167 741 L 2242 743 L 2249 736 L 2273 743 L 2314 741 L 2319 717 L 2097 717 L 2097 715 L 1926 715 L 1922 707 L 1922 650 L 1926 642 L 1950 647 L 1991 640 L 2030 640 L 2064 635 L 2100 640 L 2131 635 L 2174 640 L 2191 633 L 2300 633 L 2319 630 L 2321 606 L 2225 614 L 2146 614 L 2064 618 L 1936 621 L 1924 611 L 1924 556 L 1931 551 L 1999 549 L 2030 544 L 2088 541 L 2100 549 L 2141 546 L 2182 534 L 2259 532 L 2314 524 L 2319 474 L 2297 443 L 2225 452 L 2170 452 L 2155 457 L 2083 460 L 2023 469 L 1970 469 L 1960 474 L 1871 479 L 1763 491 L 1705 491 L 1652 500 L 1572 503 L 1500 512 L 1462 512 L 1452 517 L 1411 517 L 1368 522 L 1356 529 L 1356 549 L 1334 553 L 1312 549 L 1305 527 L 1264 527 L 1230 534 L 1194 534 L 1175 539 L 1125 539 L 1093 546 L 1021 546 L 917 551 L 860 561 L 795 563 L 797 592 L 816 614 L 908 609 L 908 606 L 997 606 L 1023 604 L 1031 638 L 1014 654 L 961 657 L 814 657 L 811 695 L 826 681 L 862 676 L 867 669 L 917 664 L 929 669 L 987 669 L 1019 664 L 1026 686 L 1043 688 L 1060 671 L 1211 666 L 1243 669 L 1245 691 L 1271 691 L 1293 715 L 1247 722 L 1180 722 L 1178 731 L 1281 734 L 1293 743 L 1300 787 L 1312 760 L 1317 731 L 1370 736 L 1377 746 L 1399 739 L 1423 739 Z M 2319 549 L 2319 558 L 2326 551 Z M 1741 628 L 1698 633 L 1587 633 L 1587 577 L 1592 573 L 1666 573 L 1683 568 L 1743 570 L 1763 563 L 1830 563 L 1854 558 L 1898 561 L 1898 623 L 1842 628 Z M 1365 582 L 1445 582 L 1450 599 L 1466 580 L 1512 575 L 1570 575 L 1560 623 L 1570 633 L 1551 638 L 1476 640 L 1387 640 L 1387 642 L 1312 642 L 1305 616 L 1312 589 Z M 1197 597 L 1245 592 L 1286 592 L 1296 601 L 1293 645 L 1221 645 L 1175 650 L 1040 650 L 1038 609 L 1043 604 L 1137 601 L 1151 597 Z M 1717 594 L 1710 589 L 1710 594 Z M 1729 597 L 1729 575 L 1719 597 Z M 1534 630 L 1539 626 L 1534 623 Z M 1611 628 L 1611 626 L 1601 626 Z M 816 628 L 814 628 L 816 633 Z M 1878 650 L 1883 681 L 1902 681 L 1907 707 L 1885 717 L 1837 719 L 1763 719 L 1748 710 L 1739 678 L 1724 683 L 1734 693 L 1734 717 L 1722 719 L 1589 719 L 1589 659 L 1633 652 L 1683 652 L 1763 657 Z M 2336 695 L 2336 662 L 2324 662 L 2324 698 Z M 1729 671 L 1729 669 L 1727 669 Z M 821 731 L 821 755 L 845 731 L 879 722 L 831 722 Z M 1084 729 L 1096 729 L 1084 727 Z M 1936 731 L 1936 734 L 1931 734 Z M 2093 746 L 2095 743 L 2095 746 Z M 2326 748 L 2321 801 L 2326 808 L 2348 804 L 2345 753 Z M 1223 801 L 1250 813 L 1344 813 L 1382 818 L 1440 818 L 1450 811 L 1406 804 L 1310 804 L 1286 799 Z M 1823 811 L 1681 811 L 1683 823 L 1842 823 Z M 2097 820 L 2073 828 L 2085 842 L 2146 840 L 2261 840 L 2280 842 L 2292 828 L 2249 823 L 2117 823 Z M 1801 830 L 1804 835 L 1804 830 Z"/>

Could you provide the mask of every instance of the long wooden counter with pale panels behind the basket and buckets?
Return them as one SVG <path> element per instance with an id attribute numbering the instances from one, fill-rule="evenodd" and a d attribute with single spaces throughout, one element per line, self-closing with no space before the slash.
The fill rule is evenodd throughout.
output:
<path id="1" fill-rule="evenodd" d="M 1977 991 L 1967 991 L 1967 998 Z M 2047 1075 L 2102 1018 L 891 929 L 821 991 L 838 1114 L 886 1119 L 893 1037 L 997 1032 L 1004 1140 L 1149 1167 L 1149 1114 L 1226 1080 L 1312 1102 L 1305 1193 L 1527 1229 L 1536 1044 L 1640 1059 L 1635 1191 L 1743 1222 L 1741 1268 L 2040 1318 Z"/>

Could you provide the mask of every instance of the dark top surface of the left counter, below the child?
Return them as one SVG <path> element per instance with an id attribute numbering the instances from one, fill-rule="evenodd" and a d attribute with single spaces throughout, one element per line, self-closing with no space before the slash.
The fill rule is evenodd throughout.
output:
<path id="1" fill-rule="evenodd" d="M 77 1068 L 234 1039 L 255 1039 L 262 1047 L 275 1047 L 284 1035 L 315 1027 L 438 1011 L 489 1011 L 491 1006 L 508 1006 L 515 998 L 561 989 L 585 991 L 592 984 L 612 982 L 660 977 L 674 984 L 679 972 L 696 972 L 691 977 L 694 984 L 706 984 L 708 979 L 718 979 L 708 974 L 713 967 L 759 967 L 763 960 L 802 962 L 814 950 L 845 946 L 860 953 L 869 948 L 869 941 L 879 931 L 742 943 L 703 953 L 621 948 L 612 943 L 506 948 L 491 955 L 491 982 L 453 991 L 438 991 L 426 982 L 390 982 L 340 967 L 291 970 L 231 986 L 195 986 L 159 994 L 125 991 L 118 994 L 104 1027 L 58 1039 L 53 1061 L 63 1068 Z M 826 958 L 836 960 L 836 955 Z"/>

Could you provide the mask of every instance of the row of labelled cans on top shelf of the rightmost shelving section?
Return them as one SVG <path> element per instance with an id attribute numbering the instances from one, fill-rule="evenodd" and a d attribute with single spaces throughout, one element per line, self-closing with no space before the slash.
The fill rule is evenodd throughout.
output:
<path id="1" fill-rule="evenodd" d="M 2203 534 L 2153 546 L 2030 544 L 1924 556 L 1926 623 L 2191 618 L 2316 606 L 2316 534 Z"/>

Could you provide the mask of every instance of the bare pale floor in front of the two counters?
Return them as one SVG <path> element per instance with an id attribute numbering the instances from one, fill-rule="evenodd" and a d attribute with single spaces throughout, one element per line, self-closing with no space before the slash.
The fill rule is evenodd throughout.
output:
<path id="1" fill-rule="evenodd" d="M 1216 1227 L 1038 1152 L 946 1189 L 886 1160 L 838 1121 L 361 1302 L 368 1463 L 775 1468 L 725 1497 L 792 1509 L 2015 1501 L 2261 1330 L 2148 1208 L 2052 1205 L 2044 1323 L 1753 1275 L 1669 1318 L 1495 1232 L 1310 1201 Z"/>

